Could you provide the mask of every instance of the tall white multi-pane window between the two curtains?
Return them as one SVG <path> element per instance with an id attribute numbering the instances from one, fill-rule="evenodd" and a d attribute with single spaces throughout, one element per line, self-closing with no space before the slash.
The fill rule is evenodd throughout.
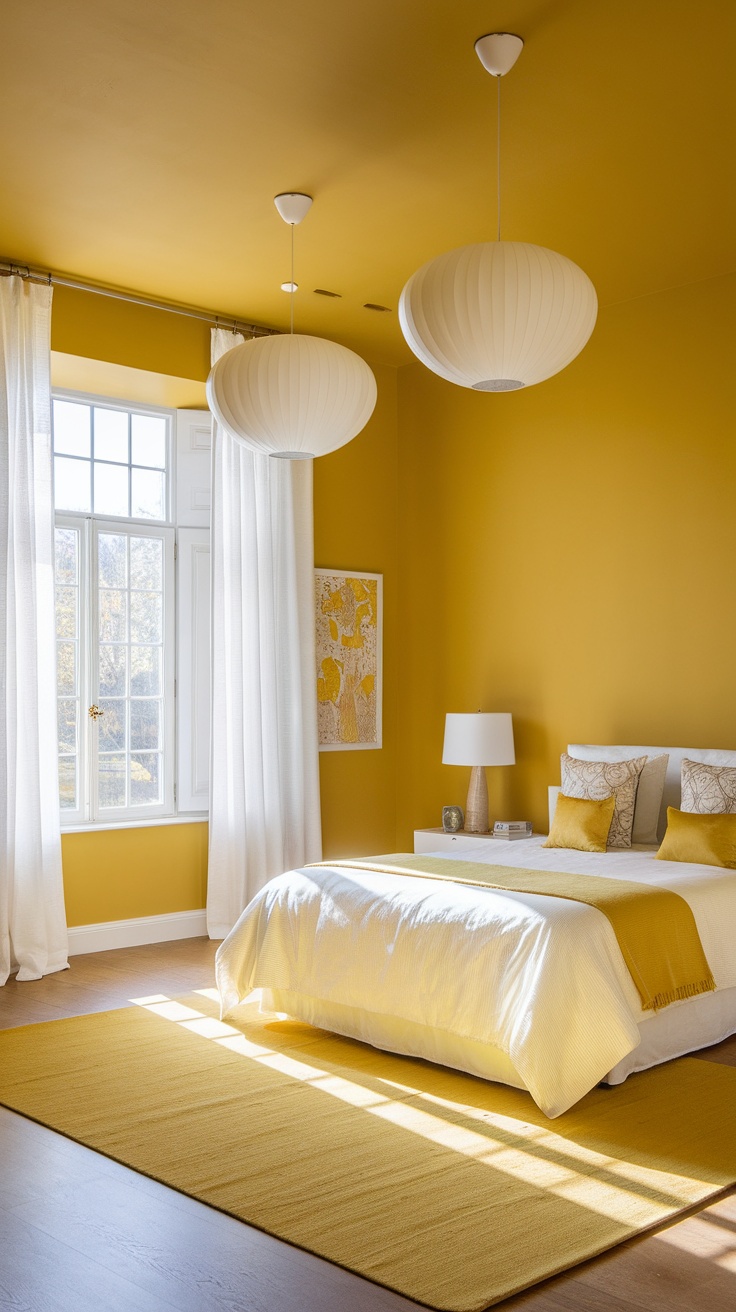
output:
<path id="1" fill-rule="evenodd" d="M 174 811 L 172 413 L 56 396 L 64 823 Z"/>

